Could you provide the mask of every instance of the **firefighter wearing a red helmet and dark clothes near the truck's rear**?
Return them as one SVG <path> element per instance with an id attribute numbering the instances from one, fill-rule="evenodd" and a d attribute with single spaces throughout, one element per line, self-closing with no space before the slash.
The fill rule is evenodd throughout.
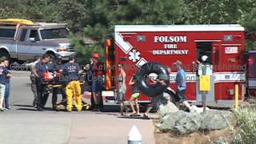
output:
<path id="1" fill-rule="evenodd" d="M 104 66 L 99 62 L 99 54 L 93 53 L 91 58 L 90 70 L 92 71 L 92 104 L 94 105 L 93 111 L 103 110 L 103 100 L 102 100 L 102 82 L 104 74 Z"/>

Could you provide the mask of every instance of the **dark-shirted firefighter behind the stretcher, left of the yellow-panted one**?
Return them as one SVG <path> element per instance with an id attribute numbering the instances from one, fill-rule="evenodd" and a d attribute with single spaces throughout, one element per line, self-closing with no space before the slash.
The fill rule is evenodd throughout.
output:
<path id="1" fill-rule="evenodd" d="M 57 57 L 56 62 L 53 62 L 50 65 L 50 72 L 54 73 L 54 80 L 58 81 L 58 84 L 61 83 L 61 76 L 60 76 L 60 69 L 62 67 L 62 57 Z M 60 102 L 62 105 L 66 105 L 66 91 L 63 87 L 54 87 L 53 88 L 53 96 L 52 96 L 52 105 L 53 109 L 56 110 L 57 108 L 57 101 L 58 101 L 58 93 L 62 94 L 62 101 Z"/>

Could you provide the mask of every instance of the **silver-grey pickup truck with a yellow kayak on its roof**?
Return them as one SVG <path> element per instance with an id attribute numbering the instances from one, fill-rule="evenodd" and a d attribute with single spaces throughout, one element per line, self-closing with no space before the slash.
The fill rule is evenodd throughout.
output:
<path id="1" fill-rule="evenodd" d="M 58 56 L 62 60 L 74 54 L 66 24 L 21 23 L 0 20 L 0 57 L 25 62 L 42 54 L 49 54 L 51 58 Z"/>

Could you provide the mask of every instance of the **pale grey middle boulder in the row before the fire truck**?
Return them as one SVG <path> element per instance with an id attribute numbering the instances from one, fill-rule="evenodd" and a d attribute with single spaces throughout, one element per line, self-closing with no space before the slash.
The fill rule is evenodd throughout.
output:
<path id="1" fill-rule="evenodd" d="M 179 134 L 190 134 L 201 127 L 202 116 L 196 112 L 186 114 L 175 123 L 174 131 Z"/>

